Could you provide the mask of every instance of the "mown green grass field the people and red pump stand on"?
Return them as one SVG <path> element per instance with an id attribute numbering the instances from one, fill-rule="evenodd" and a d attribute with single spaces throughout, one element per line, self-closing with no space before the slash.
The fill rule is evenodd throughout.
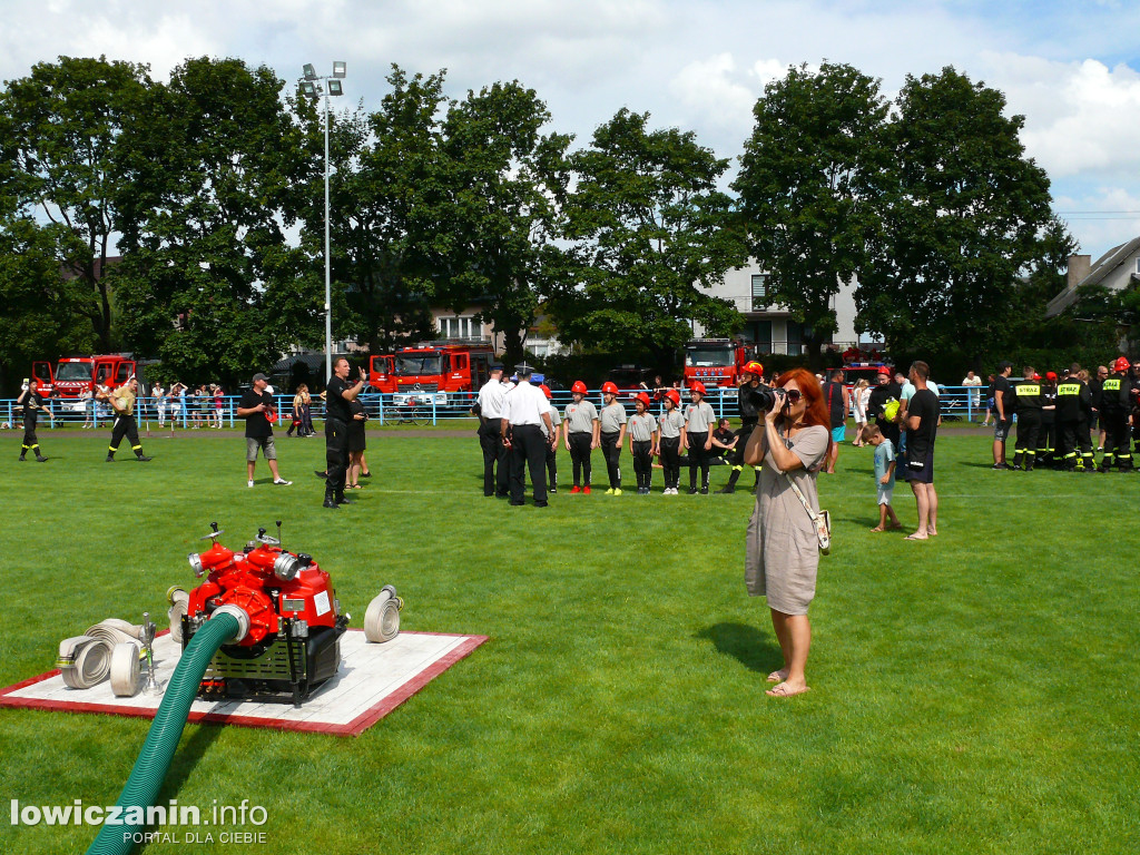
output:
<path id="1" fill-rule="evenodd" d="M 44 431 L 51 459 L 18 464 L 0 434 L 0 685 L 97 620 L 164 614 L 212 520 L 230 546 L 284 520 L 353 626 L 391 583 L 405 629 L 490 636 L 358 739 L 188 725 L 162 799 L 249 799 L 269 842 L 148 853 L 1140 850 L 1140 477 L 992 472 L 987 434 L 943 435 L 939 536 L 907 543 L 870 534 L 871 453 L 845 447 L 821 475 L 813 691 L 776 700 L 747 491 L 570 496 L 563 453 L 551 506 L 508 507 L 482 497 L 473 432 L 385 430 L 334 512 L 319 440 L 280 438 L 294 484 L 259 463 L 251 490 L 237 434 L 145 439 L 154 462 L 113 465 L 106 435 Z M 904 484 L 896 510 L 913 527 Z M 114 804 L 148 724 L 2 709 L 0 791 Z M 6 819 L 0 850 L 82 852 L 96 831 Z"/>

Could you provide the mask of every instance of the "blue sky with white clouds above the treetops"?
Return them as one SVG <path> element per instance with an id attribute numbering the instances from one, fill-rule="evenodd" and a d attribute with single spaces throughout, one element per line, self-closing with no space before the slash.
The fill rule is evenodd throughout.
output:
<path id="1" fill-rule="evenodd" d="M 1023 141 L 1083 252 L 1140 235 L 1138 2 L 0 0 L 0 14 L 5 80 L 58 55 L 146 62 L 160 79 L 188 56 L 237 56 L 286 79 L 344 59 L 347 93 L 372 108 L 390 64 L 446 67 L 454 97 L 496 80 L 535 88 L 554 128 L 580 141 L 629 107 L 724 157 L 789 64 L 850 63 L 888 97 L 907 73 L 954 65 L 1026 116 Z"/>

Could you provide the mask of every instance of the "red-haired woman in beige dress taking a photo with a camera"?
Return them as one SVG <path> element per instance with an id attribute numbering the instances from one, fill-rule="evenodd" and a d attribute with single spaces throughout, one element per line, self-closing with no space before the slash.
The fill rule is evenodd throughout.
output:
<path id="1" fill-rule="evenodd" d="M 768 675 L 777 684 L 768 694 L 788 698 L 808 691 L 807 606 L 820 564 L 816 526 L 796 490 L 819 511 L 815 481 L 830 450 L 831 420 L 819 381 L 805 368 L 782 374 L 771 396 L 762 406 L 764 426 L 744 448 L 746 466 L 764 463 L 748 521 L 744 583 L 751 596 L 767 597 L 783 653 L 783 668 Z"/>

